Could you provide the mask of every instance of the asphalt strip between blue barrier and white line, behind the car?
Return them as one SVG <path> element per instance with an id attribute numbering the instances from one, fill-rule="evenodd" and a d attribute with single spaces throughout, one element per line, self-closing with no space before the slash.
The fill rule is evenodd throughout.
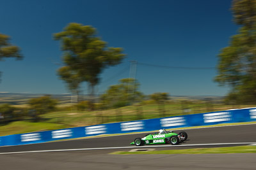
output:
<path id="1" fill-rule="evenodd" d="M 197 145 L 207 143 L 256 143 L 256 124 L 235 125 L 226 127 L 210 127 L 203 129 L 189 129 L 188 141 L 181 145 Z M 181 131 L 181 130 L 180 130 Z M 179 131 L 174 131 L 179 132 Z M 134 146 L 129 145 L 135 138 L 143 137 L 143 134 L 130 134 L 122 136 L 111 136 L 104 138 L 77 139 L 71 141 L 58 141 L 50 143 L 38 143 L 32 145 L 5 146 L 0 147 L 3 152 L 26 152 L 35 150 L 65 150 L 78 148 L 108 148 Z M 168 145 L 168 144 L 166 144 Z M 153 145 L 150 145 L 153 146 Z M 156 145 L 157 146 L 157 145 Z M 172 145 L 169 145 L 172 146 Z M 139 148 L 139 147 L 138 147 Z M 183 147 L 184 148 L 184 147 Z M 168 149 L 164 147 L 164 149 Z"/>

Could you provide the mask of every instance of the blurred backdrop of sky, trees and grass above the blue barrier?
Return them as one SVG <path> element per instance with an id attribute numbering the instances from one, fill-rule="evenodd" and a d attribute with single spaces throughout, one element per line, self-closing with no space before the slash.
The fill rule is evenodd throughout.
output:
<path id="1" fill-rule="evenodd" d="M 255 13 L 253 0 L 1 1 L 0 135 L 253 107 Z"/>

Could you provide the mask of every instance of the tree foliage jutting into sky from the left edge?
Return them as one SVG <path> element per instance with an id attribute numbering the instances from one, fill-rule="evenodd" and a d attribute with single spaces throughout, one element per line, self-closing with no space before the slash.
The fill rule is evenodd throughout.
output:
<path id="1" fill-rule="evenodd" d="M 20 48 L 10 44 L 10 37 L 0 33 L 0 61 L 4 58 L 14 57 L 22 59 Z"/>

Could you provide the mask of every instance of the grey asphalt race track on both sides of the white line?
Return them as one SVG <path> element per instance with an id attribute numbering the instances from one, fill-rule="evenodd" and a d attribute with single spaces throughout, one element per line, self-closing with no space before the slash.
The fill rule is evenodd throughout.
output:
<path id="1" fill-rule="evenodd" d="M 249 143 L 256 143 L 255 130 L 256 124 L 188 129 L 186 132 L 189 138 L 186 143 L 178 146 L 150 145 L 145 147 L 156 150 L 172 150 L 248 145 Z M 134 138 L 142 138 L 143 136 L 145 134 L 130 134 L 32 145 L 4 146 L 0 147 L 0 166 L 1 169 L 256 169 L 256 153 L 108 154 L 118 150 L 145 149 L 144 146 L 129 145 Z M 49 152 L 45 152 L 45 150 Z"/>

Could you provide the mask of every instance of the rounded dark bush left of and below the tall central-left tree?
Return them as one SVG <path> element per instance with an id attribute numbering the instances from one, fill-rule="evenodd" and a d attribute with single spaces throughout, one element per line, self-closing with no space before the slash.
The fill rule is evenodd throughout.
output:
<path id="1" fill-rule="evenodd" d="M 56 99 L 52 99 L 51 96 L 42 96 L 29 99 L 28 101 L 32 117 L 36 121 L 40 119 L 40 115 L 54 111 L 57 105 Z"/>

